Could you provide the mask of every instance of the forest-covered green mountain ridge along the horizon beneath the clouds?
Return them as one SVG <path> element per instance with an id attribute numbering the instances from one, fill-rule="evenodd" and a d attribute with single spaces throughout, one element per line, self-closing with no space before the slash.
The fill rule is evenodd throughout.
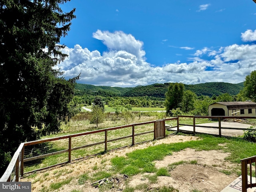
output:
<path id="1" fill-rule="evenodd" d="M 136 97 L 136 96 L 151 96 L 157 98 L 164 98 L 165 93 L 168 90 L 170 83 L 164 84 L 152 84 L 147 86 L 137 87 L 110 87 L 110 86 L 94 86 L 89 84 L 76 84 L 76 95 L 100 95 L 100 96 L 125 96 L 125 97 Z M 224 83 L 224 82 L 210 82 L 187 85 L 184 84 L 185 90 L 191 90 L 197 96 L 219 96 L 224 93 L 230 95 L 236 95 L 244 87 L 244 82 L 238 84 Z"/>

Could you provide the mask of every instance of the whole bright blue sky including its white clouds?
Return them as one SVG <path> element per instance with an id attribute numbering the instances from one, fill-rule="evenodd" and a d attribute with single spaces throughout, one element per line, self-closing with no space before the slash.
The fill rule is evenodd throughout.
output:
<path id="1" fill-rule="evenodd" d="M 69 56 L 57 67 L 78 83 L 243 82 L 256 70 L 252 0 L 71 0 Z"/>

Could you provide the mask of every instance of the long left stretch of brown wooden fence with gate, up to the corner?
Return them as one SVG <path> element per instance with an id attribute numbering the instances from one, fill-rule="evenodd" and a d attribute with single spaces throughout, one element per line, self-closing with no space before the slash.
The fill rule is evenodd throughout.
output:
<path id="1" fill-rule="evenodd" d="M 132 138 L 131 145 L 135 145 L 135 144 L 142 143 L 142 142 L 135 143 L 135 140 L 134 140 L 135 136 L 139 136 L 139 135 L 143 135 L 143 134 L 149 134 L 149 133 L 154 133 L 154 138 L 152 138 L 152 140 L 163 138 L 163 137 L 166 136 L 165 135 L 165 130 L 167 129 L 167 128 L 165 128 L 165 122 L 169 121 L 169 120 L 177 121 L 177 118 L 166 118 L 166 119 L 163 119 L 163 120 L 154 120 L 154 121 L 150 121 L 150 122 L 135 123 L 135 124 L 129 124 L 129 125 L 124 125 L 124 126 L 117 126 L 117 127 L 112 127 L 112 128 L 94 130 L 94 131 L 89 131 L 89 132 L 82 132 L 82 133 L 78 133 L 78 134 L 59 136 L 59 137 L 55 137 L 55 138 L 47 138 L 47 139 L 42 139 L 42 140 L 37 140 L 37 141 L 24 142 L 24 143 L 20 144 L 19 148 L 14 153 L 14 156 L 12 157 L 12 160 L 11 160 L 9 166 L 6 169 L 6 172 L 4 172 L 3 176 L 0 178 L 0 182 L 19 181 L 20 177 L 23 176 L 23 174 L 24 174 L 24 162 L 29 162 L 29 161 L 32 161 L 32 160 L 42 159 L 42 158 L 45 158 L 45 157 L 48 157 L 48 156 L 68 152 L 68 161 L 52 165 L 52 166 L 56 166 L 56 165 L 70 163 L 71 162 L 71 152 L 74 151 L 74 150 L 104 144 L 104 150 L 107 151 L 108 150 L 108 142 L 114 142 L 114 141 L 125 139 L 125 138 Z M 135 133 L 135 126 L 140 126 L 140 125 L 145 125 L 145 124 L 152 124 L 152 123 L 154 123 L 154 128 L 151 131 L 140 132 L 140 133 L 137 133 L 137 134 Z M 114 138 L 114 139 L 108 140 L 108 131 L 122 129 L 122 128 L 128 128 L 128 127 L 132 128 L 132 135 L 127 135 L 127 136 L 123 136 L 123 137 L 120 137 L 120 138 Z M 173 126 L 172 128 L 176 128 L 176 127 L 177 126 Z M 170 128 L 170 127 L 168 127 L 168 128 Z M 77 146 L 77 147 L 72 148 L 72 138 L 75 138 L 75 137 L 78 137 L 78 136 L 85 136 L 85 135 L 89 135 L 89 134 L 96 134 L 96 133 L 100 133 L 100 132 L 104 132 L 104 134 L 105 134 L 104 141 L 96 142 L 96 143 L 93 143 L 93 144 Z M 56 141 L 56 140 L 64 140 L 64 139 L 68 139 L 68 149 L 59 150 L 57 152 L 51 152 L 51 153 L 47 153 L 47 154 L 42 154 L 42 155 L 38 155 L 38 156 L 34 156 L 34 157 L 24 158 L 24 147 L 25 146 L 31 146 L 31 145 L 42 144 L 42 143 Z M 145 141 L 143 141 L 143 142 L 145 142 Z M 124 147 L 124 146 L 122 146 L 122 147 Z M 77 160 L 77 159 L 74 159 L 74 160 Z M 47 169 L 47 168 L 50 168 L 52 166 L 48 166 L 48 167 L 45 167 L 45 168 L 33 170 L 33 171 L 30 171 L 30 172 Z"/>

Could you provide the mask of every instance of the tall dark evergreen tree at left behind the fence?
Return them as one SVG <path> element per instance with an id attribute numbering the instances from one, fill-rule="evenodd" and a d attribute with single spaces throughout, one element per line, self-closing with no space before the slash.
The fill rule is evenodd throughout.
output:
<path id="1" fill-rule="evenodd" d="M 66 57 L 58 45 L 70 30 L 68 0 L 0 1 L 0 168 L 20 142 L 58 132 L 73 115 L 78 77 L 65 80 L 53 67 Z M 0 172 L 2 171 L 0 170 Z"/>

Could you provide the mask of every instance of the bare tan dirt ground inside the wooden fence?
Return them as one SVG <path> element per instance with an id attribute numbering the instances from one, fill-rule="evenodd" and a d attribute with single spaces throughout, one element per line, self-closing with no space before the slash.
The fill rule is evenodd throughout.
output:
<path id="1" fill-rule="evenodd" d="M 136 149 L 142 149 L 162 143 L 168 144 L 190 140 L 198 140 L 198 137 L 182 135 L 170 136 L 162 140 L 112 151 L 104 155 L 88 158 L 62 167 L 38 172 L 32 176 L 23 178 L 22 181 L 32 182 L 32 192 L 46 192 L 52 191 L 50 188 L 51 184 L 67 180 L 68 178 L 73 178 L 69 184 L 60 187 L 57 191 L 71 192 L 73 190 L 73 192 L 99 192 L 104 190 L 104 188 L 95 188 L 90 181 L 79 185 L 79 176 L 84 173 L 88 173 L 88 176 L 91 176 L 101 170 L 111 170 L 111 158 L 115 156 L 125 156 L 126 153 Z M 108 180 L 114 188 L 106 191 L 122 191 L 126 186 L 136 187 L 141 184 L 146 184 L 148 190 L 161 186 L 173 186 L 179 190 L 179 192 L 193 192 L 196 190 L 201 192 L 220 192 L 237 178 L 236 175 L 226 175 L 220 172 L 223 169 L 237 166 L 224 160 L 228 155 L 228 153 L 217 150 L 195 151 L 194 149 L 187 148 L 180 152 L 174 152 L 171 156 L 166 156 L 164 160 L 156 161 L 156 168 L 167 167 L 168 164 L 179 162 L 181 160 L 186 162 L 196 160 L 196 164 L 180 164 L 170 170 L 170 176 L 158 176 L 156 183 L 152 183 L 148 180 L 148 176 L 153 174 L 144 173 L 128 178 L 124 175 L 116 175 Z M 143 190 L 135 190 L 135 192 L 142 191 Z"/>

